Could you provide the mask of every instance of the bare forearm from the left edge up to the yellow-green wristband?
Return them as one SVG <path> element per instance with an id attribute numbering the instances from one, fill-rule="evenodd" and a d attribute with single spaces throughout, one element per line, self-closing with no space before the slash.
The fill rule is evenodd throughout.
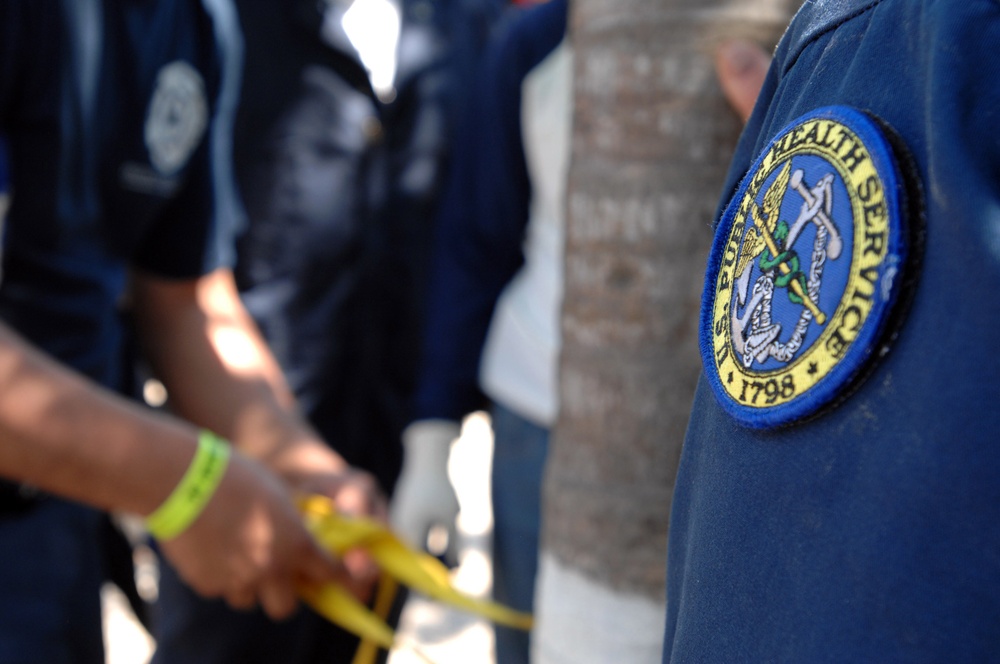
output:
<path id="1" fill-rule="evenodd" d="M 106 510 L 153 511 L 197 432 L 58 365 L 0 324 L 0 475 Z"/>

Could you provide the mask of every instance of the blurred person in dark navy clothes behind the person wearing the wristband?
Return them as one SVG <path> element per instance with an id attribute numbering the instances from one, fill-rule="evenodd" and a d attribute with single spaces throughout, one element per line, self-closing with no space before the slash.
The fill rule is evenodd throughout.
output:
<path id="1" fill-rule="evenodd" d="M 302 413 L 391 493 L 456 109 L 502 3 L 234 7 L 237 284 Z M 169 568 L 158 615 L 157 664 L 346 662 L 358 645 L 308 610 L 274 623 L 203 601 Z"/>

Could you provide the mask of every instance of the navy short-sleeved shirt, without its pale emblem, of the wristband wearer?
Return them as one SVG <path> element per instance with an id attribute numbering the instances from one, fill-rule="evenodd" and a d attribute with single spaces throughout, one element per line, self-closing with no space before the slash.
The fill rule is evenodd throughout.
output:
<path id="1" fill-rule="evenodd" d="M 115 386 L 128 267 L 195 277 L 230 257 L 213 222 L 207 141 L 177 173 L 151 176 L 146 190 L 123 175 L 155 173 L 144 124 L 165 64 L 199 71 L 212 111 L 219 70 L 201 3 L 100 4 L 104 49 L 88 114 L 80 34 L 62 3 L 0 3 L 0 132 L 17 192 L 4 231 L 0 317 Z"/>

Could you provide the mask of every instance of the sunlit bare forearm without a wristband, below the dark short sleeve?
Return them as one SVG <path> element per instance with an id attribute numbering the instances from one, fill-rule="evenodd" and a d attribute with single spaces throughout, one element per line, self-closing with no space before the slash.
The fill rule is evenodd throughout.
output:
<path id="1" fill-rule="evenodd" d="M 295 412 L 281 370 L 239 303 L 228 271 L 194 282 L 140 278 L 135 301 L 147 357 L 173 412 L 292 479 L 304 468 L 346 467 Z"/>

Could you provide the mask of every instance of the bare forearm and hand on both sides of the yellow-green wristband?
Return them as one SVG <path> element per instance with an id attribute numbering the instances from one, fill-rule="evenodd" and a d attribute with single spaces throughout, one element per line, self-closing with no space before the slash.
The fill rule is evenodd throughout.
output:
<path id="1" fill-rule="evenodd" d="M 0 324 L 0 475 L 105 510 L 153 512 L 184 475 L 198 431 L 72 373 Z M 166 555 L 199 593 L 260 602 L 280 618 L 299 583 L 344 579 L 302 526 L 283 485 L 233 454 Z"/>

